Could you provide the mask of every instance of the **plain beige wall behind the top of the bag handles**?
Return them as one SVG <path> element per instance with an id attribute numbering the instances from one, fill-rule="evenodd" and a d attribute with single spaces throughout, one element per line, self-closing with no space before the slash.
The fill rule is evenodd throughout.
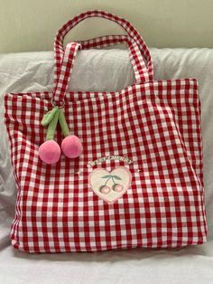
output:
<path id="1" fill-rule="evenodd" d="M 52 50 L 60 25 L 91 9 L 124 16 L 149 46 L 213 48 L 213 0 L 0 0 L 0 52 Z M 69 39 L 117 32 L 116 24 L 87 20 Z"/>

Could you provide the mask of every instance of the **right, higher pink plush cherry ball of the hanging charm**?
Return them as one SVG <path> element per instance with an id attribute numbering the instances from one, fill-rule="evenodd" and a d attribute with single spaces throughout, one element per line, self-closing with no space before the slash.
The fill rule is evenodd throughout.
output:
<path id="1" fill-rule="evenodd" d="M 61 143 L 61 150 L 65 156 L 69 158 L 75 158 L 80 156 L 83 147 L 79 137 L 75 135 L 69 135 L 65 137 Z"/>

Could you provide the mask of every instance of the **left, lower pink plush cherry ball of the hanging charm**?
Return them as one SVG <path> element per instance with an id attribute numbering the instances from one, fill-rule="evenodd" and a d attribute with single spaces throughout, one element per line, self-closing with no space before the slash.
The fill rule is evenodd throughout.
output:
<path id="1" fill-rule="evenodd" d="M 49 165 L 55 164 L 60 159 L 60 146 L 54 140 L 45 141 L 39 147 L 39 156 L 41 160 Z"/>

